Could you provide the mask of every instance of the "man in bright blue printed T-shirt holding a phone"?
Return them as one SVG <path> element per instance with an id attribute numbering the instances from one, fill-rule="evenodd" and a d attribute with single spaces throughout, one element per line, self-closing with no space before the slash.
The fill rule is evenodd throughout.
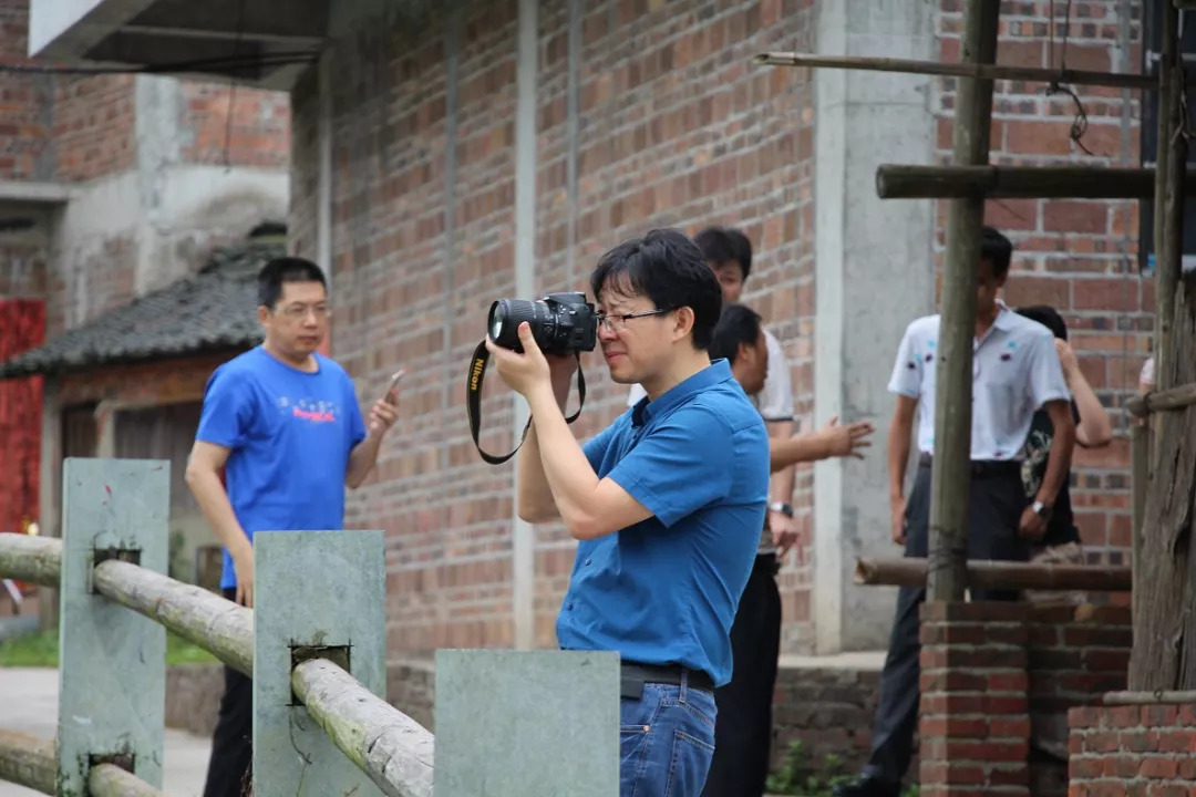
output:
<path id="1" fill-rule="evenodd" d="M 328 289 L 315 263 L 267 263 L 257 293 L 266 339 L 212 374 L 187 465 L 187 484 L 225 547 L 220 587 L 249 607 L 254 534 L 341 529 L 344 486 L 365 480 L 398 411 L 392 397 L 379 400 L 366 429 L 353 380 L 317 352 Z M 203 797 L 248 789 L 252 719 L 250 679 L 225 668 Z"/>

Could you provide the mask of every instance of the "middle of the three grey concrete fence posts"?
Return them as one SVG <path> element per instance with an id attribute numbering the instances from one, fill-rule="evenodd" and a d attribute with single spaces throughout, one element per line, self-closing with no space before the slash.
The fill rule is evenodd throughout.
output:
<path id="1" fill-rule="evenodd" d="M 327 658 L 385 699 L 385 574 L 380 531 L 254 535 L 255 797 L 380 797 L 295 698 L 291 673 Z"/>

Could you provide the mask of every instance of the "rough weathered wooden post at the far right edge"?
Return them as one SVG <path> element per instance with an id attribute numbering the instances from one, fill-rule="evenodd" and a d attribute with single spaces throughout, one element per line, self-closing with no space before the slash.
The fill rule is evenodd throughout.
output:
<path id="1" fill-rule="evenodd" d="M 1159 60 L 1159 149 L 1154 251 L 1158 257 L 1155 381 L 1172 401 L 1142 401 L 1163 412 L 1151 446 L 1151 477 L 1134 562 L 1134 649 L 1129 688 L 1196 687 L 1196 557 L 1192 497 L 1196 493 L 1196 406 L 1183 404 L 1184 387 L 1196 382 L 1196 298 L 1180 280 L 1183 259 L 1183 180 L 1188 161 L 1183 108 L 1184 69 L 1179 57 L 1178 12 L 1163 4 Z M 1148 428 L 1155 428 L 1149 424 Z"/>

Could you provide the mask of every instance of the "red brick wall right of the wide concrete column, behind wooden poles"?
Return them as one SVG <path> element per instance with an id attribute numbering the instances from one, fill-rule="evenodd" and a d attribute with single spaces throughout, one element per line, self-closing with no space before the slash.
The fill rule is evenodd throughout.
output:
<path id="1" fill-rule="evenodd" d="M 1063 7 L 1056 2 L 1001 4 L 997 61 L 1015 66 L 1057 67 L 1064 33 Z M 1107 72 L 1119 47 L 1119 0 L 1076 0 L 1067 45 L 1067 66 Z M 1141 72 L 1142 2 L 1133 0 L 1128 63 Z M 941 0 L 938 18 L 940 57 L 958 60 L 963 26 L 960 0 Z M 1055 8 L 1055 53 L 1050 49 L 1050 8 Z M 938 154 L 951 163 L 954 79 L 940 79 L 934 100 Z M 1068 139 L 1075 117 L 1067 94 L 1046 97 L 1042 84 L 997 81 L 994 92 L 991 161 L 1001 165 L 1137 166 L 1137 92 L 1075 86 L 1087 112 L 1081 143 Z M 1123 112 L 1127 115 L 1122 141 Z M 946 244 L 946 207 L 940 203 L 938 240 L 940 265 Z M 1085 376 L 1102 401 L 1112 407 L 1116 439 L 1097 450 L 1078 448 L 1074 456 L 1072 503 L 1091 560 L 1129 562 L 1129 439 L 1119 410 L 1137 385 L 1148 356 L 1154 313 L 1154 283 L 1137 276 L 1137 203 L 1064 200 L 1006 200 L 989 202 L 989 223 L 1014 241 L 1013 271 L 1005 298 L 1011 306 L 1054 305 L 1067 321 Z"/>

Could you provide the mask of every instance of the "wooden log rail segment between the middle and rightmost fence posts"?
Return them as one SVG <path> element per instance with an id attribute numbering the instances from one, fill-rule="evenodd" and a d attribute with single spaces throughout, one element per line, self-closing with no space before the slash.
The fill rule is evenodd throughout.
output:
<path id="1" fill-rule="evenodd" d="M 324 658 L 303 662 L 291 686 L 332 742 L 391 797 L 431 797 L 434 740 Z"/>

